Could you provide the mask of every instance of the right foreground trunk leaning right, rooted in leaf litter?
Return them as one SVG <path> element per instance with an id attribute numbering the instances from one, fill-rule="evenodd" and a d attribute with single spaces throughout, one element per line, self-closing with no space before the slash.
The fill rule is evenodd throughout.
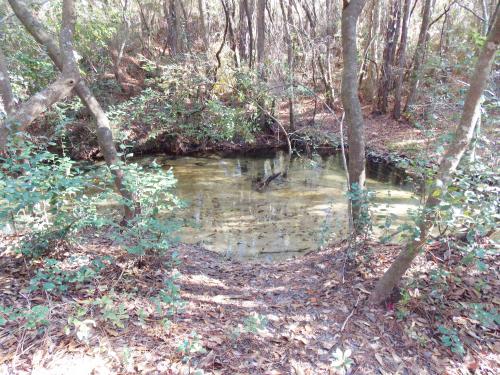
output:
<path id="1" fill-rule="evenodd" d="M 453 173 L 457 169 L 463 154 L 469 148 L 474 134 L 474 128 L 480 116 L 481 96 L 488 81 L 488 76 L 495 59 L 495 53 L 500 44 L 500 17 L 494 21 L 488 39 L 479 55 L 475 71 L 470 79 L 470 86 L 465 98 L 464 108 L 460 123 L 455 130 L 455 135 L 449 144 L 436 174 L 436 180 L 430 189 L 425 204 L 420 224 L 420 238 L 408 244 L 399 254 L 384 276 L 378 281 L 375 290 L 370 296 L 370 301 L 379 304 L 391 294 L 406 270 L 424 247 L 427 236 L 435 219 L 435 211 L 441 198 L 452 181 Z"/>

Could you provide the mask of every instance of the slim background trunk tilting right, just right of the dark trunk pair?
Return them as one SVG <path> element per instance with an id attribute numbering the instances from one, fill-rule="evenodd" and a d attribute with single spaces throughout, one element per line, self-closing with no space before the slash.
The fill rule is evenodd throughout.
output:
<path id="1" fill-rule="evenodd" d="M 425 60 L 425 53 L 427 51 L 427 33 L 431 23 L 432 3 L 433 0 L 425 0 L 422 13 L 422 24 L 420 25 L 417 48 L 413 58 L 413 72 L 411 74 L 410 91 L 406 100 L 405 112 L 411 110 L 411 107 L 415 104 L 418 84 L 422 78 L 422 68 Z"/>

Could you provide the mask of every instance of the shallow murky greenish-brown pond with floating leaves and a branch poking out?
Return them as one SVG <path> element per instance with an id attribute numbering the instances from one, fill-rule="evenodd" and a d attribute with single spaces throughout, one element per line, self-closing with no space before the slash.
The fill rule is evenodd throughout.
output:
<path id="1" fill-rule="evenodd" d="M 276 178 L 264 191 L 256 181 L 283 169 L 285 157 L 156 158 L 173 168 L 177 195 L 188 203 L 181 213 L 193 223 L 181 232 L 183 242 L 237 258 L 286 258 L 318 249 L 347 231 L 345 173 L 339 156 L 294 158 L 286 179 Z M 387 213 L 393 225 L 416 205 L 397 175 L 369 170 L 384 181 L 368 179 L 376 193 L 374 222 Z"/>

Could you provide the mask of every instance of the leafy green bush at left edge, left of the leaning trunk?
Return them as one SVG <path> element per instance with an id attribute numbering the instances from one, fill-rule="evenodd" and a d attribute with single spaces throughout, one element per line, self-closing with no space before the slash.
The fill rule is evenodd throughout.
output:
<path id="1" fill-rule="evenodd" d="M 73 160 L 18 138 L 0 156 L 0 223 L 26 234 L 24 255 L 42 256 L 89 221 L 95 204 L 85 194 L 89 186 Z"/>

